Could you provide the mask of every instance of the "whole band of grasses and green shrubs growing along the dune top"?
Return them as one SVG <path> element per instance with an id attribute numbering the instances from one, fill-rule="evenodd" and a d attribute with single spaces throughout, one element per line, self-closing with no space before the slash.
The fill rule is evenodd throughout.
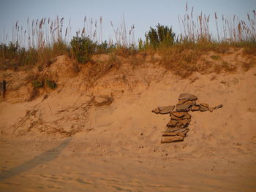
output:
<path id="1" fill-rule="evenodd" d="M 84 26 L 71 37 L 71 26 L 64 28 L 64 18 L 50 20 L 27 20 L 27 28 L 14 26 L 12 41 L 0 45 L 0 69 L 22 69 L 22 67 L 37 64 L 39 71 L 43 66 L 50 66 L 53 58 L 58 55 L 67 55 L 78 63 L 86 64 L 92 61 L 92 55 L 110 53 L 110 61 L 120 66 L 116 55 L 121 55 L 129 60 L 129 64 L 136 66 L 135 53 L 152 54 L 158 53 L 162 57 L 160 64 L 167 69 L 173 70 L 181 77 L 187 77 L 192 72 L 200 71 L 197 60 L 206 51 L 225 53 L 230 47 L 244 47 L 245 54 L 256 53 L 256 13 L 247 15 L 247 20 L 240 20 L 234 15 L 229 20 L 222 15 L 221 19 L 217 13 L 214 14 L 217 34 L 212 35 L 209 22 L 210 15 L 201 13 L 194 16 L 193 7 L 191 12 L 186 6 L 184 17 L 178 17 L 181 24 L 181 34 L 173 32 L 169 26 L 158 23 L 155 28 L 151 27 L 145 34 L 145 40 L 139 39 L 135 42 L 134 29 L 131 26 L 127 30 L 125 20 L 113 28 L 115 43 L 110 39 L 108 42 L 102 40 L 102 18 L 99 21 L 84 18 Z M 7 39 L 7 37 L 4 37 Z M 219 55 L 212 55 L 213 61 L 220 61 Z M 108 61 L 108 63 L 110 62 Z M 113 64 L 108 64 L 113 66 Z M 207 65 L 206 65 L 207 66 Z M 223 69 L 232 71 L 227 64 L 222 64 Z M 245 64 L 247 69 L 251 64 Z M 96 66 L 94 66 L 95 68 Z M 219 66 L 218 66 L 219 67 Z M 96 70 L 95 71 L 100 71 Z M 50 88 L 56 88 L 51 81 L 45 82 Z M 40 82 L 34 82 L 34 87 L 40 87 Z"/>

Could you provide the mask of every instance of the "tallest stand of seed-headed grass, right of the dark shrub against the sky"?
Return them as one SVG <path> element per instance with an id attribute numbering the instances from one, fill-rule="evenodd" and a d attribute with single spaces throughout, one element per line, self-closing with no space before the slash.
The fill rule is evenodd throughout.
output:
<path id="1" fill-rule="evenodd" d="M 221 20 L 217 12 L 214 13 L 217 35 L 214 36 L 210 30 L 210 19 L 212 15 L 200 13 L 194 15 L 194 7 L 189 12 L 186 5 L 186 13 L 183 17 L 178 16 L 183 39 L 191 42 L 200 42 L 202 39 L 209 42 L 255 42 L 256 41 L 256 13 L 247 13 L 247 20 L 241 20 L 236 15 L 226 18 L 222 15 Z"/>

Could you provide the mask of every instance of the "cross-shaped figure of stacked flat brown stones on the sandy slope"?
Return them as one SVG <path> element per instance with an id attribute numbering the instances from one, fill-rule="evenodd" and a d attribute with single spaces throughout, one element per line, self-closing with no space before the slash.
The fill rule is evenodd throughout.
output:
<path id="1" fill-rule="evenodd" d="M 167 123 L 164 133 L 162 134 L 161 142 L 178 142 L 183 141 L 184 137 L 187 136 L 189 131 L 189 123 L 191 121 L 191 115 L 189 115 L 189 110 L 206 112 L 217 110 L 222 107 L 219 104 L 216 107 L 209 107 L 206 103 L 196 103 L 197 96 L 189 93 L 181 93 L 178 97 L 178 104 L 176 104 L 176 111 L 174 111 L 175 106 L 165 106 L 157 107 L 152 110 L 152 112 L 157 114 L 168 114 L 170 113 L 170 121 Z"/>

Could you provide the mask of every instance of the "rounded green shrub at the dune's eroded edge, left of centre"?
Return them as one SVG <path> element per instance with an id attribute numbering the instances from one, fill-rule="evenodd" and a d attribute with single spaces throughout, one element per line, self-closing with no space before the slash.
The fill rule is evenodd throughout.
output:
<path id="1" fill-rule="evenodd" d="M 97 47 L 97 44 L 92 42 L 89 37 L 73 37 L 70 45 L 75 58 L 82 64 L 91 61 L 91 56 L 95 53 Z"/>

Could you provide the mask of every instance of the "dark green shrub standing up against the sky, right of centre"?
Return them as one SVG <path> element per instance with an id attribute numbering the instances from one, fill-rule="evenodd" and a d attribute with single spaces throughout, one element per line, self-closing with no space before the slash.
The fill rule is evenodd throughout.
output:
<path id="1" fill-rule="evenodd" d="M 146 42 L 156 48 L 159 45 L 173 45 L 176 42 L 176 34 L 173 32 L 173 29 L 167 26 L 156 26 L 157 28 L 150 28 L 150 30 L 145 34 Z"/>

